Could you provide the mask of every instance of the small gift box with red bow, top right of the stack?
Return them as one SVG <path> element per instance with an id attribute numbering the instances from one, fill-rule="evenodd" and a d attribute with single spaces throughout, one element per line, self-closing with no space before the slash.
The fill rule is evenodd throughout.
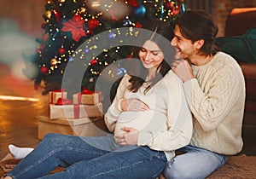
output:
<path id="1" fill-rule="evenodd" d="M 101 92 L 94 92 L 84 89 L 82 92 L 73 95 L 74 104 L 95 105 L 102 101 Z"/>

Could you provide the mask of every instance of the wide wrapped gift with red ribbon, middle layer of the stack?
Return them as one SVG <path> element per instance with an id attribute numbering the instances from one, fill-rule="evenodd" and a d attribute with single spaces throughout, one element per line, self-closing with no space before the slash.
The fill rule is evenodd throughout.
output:
<path id="1" fill-rule="evenodd" d="M 49 118 L 90 118 L 102 117 L 102 103 L 96 105 L 55 105 L 49 104 Z"/>

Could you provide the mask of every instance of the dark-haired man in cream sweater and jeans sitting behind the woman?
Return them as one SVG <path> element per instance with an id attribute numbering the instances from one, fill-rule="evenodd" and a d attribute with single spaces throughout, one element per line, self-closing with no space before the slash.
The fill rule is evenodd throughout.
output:
<path id="1" fill-rule="evenodd" d="M 183 80 L 194 131 L 189 146 L 166 166 L 166 178 L 205 178 L 241 151 L 245 82 L 237 62 L 215 46 L 217 32 L 205 11 L 190 10 L 176 20 L 171 44 L 179 60 L 172 71 Z"/>

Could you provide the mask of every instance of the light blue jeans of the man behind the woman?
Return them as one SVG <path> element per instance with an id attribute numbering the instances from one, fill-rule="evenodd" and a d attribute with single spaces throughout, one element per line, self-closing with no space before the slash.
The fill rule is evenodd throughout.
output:
<path id="1" fill-rule="evenodd" d="M 168 162 L 164 170 L 167 179 L 206 178 L 214 170 L 223 166 L 228 159 L 227 155 L 192 146 L 182 147 L 177 152 L 183 152 L 183 154 L 177 155 Z"/>

